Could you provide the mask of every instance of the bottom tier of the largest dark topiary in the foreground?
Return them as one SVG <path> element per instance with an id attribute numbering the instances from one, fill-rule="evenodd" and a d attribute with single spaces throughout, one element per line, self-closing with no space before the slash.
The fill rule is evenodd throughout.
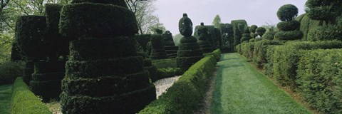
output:
<path id="1" fill-rule="evenodd" d="M 146 104 L 155 100 L 155 86 L 148 86 L 121 95 L 115 94 L 104 97 L 68 95 L 68 93 L 63 92 L 61 100 L 63 103 L 62 109 L 71 109 L 62 110 L 63 113 L 136 113 L 144 108 Z"/>

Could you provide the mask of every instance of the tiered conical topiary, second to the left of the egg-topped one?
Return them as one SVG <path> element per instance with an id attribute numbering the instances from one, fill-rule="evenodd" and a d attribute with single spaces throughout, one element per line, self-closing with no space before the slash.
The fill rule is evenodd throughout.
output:
<path id="1" fill-rule="evenodd" d="M 150 58 L 152 59 L 165 59 L 167 57 L 167 53 L 164 49 L 164 41 L 162 39 L 161 34 L 152 34 L 151 35 L 151 45 L 152 45 L 152 51 Z"/>

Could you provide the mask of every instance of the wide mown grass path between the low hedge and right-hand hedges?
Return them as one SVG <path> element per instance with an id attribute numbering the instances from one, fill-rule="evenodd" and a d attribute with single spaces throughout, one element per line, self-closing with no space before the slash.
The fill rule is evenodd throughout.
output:
<path id="1" fill-rule="evenodd" d="M 210 113 L 310 113 L 238 53 L 221 59 Z"/>

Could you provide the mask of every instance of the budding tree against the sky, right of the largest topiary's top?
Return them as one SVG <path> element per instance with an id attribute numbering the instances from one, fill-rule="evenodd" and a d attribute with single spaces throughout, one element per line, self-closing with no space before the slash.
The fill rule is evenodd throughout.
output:
<path id="1" fill-rule="evenodd" d="M 140 34 L 152 33 L 155 26 L 162 26 L 158 16 L 155 16 L 154 14 L 156 10 L 154 5 L 155 1 L 156 0 L 125 0 L 128 4 L 128 9 L 135 14 Z"/>

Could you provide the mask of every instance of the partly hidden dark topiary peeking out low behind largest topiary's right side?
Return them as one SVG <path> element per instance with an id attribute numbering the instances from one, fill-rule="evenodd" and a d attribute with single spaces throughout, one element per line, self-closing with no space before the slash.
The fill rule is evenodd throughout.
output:
<path id="1" fill-rule="evenodd" d="M 146 53 L 138 52 L 138 56 L 142 56 L 144 58 L 144 69 L 145 71 L 148 71 L 148 76 L 150 77 L 152 82 L 155 82 L 158 80 L 157 78 L 157 67 L 152 65 L 152 59 L 147 58 Z"/>

